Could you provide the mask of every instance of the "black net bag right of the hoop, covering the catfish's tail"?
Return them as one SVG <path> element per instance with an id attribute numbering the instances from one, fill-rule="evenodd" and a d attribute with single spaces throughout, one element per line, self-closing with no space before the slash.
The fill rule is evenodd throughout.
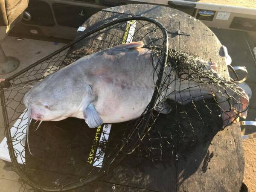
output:
<path id="1" fill-rule="evenodd" d="M 157 52 L 158 47 L 151 49 Z M 245 118 L 249 104 L 241 87 L 217 73 L 215 62 L 169 49 L 167 63 L 157 104 L 164 110 L 167 101 L 170 113 L 153 113 L 154 128 L 136 148 L 150 160 L 182 157 L 239 116 Z"/>

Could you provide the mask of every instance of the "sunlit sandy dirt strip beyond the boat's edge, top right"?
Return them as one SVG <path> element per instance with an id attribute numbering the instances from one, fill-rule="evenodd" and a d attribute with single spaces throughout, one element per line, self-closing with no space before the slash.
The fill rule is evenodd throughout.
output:
<path id="1" fill-rule="evenodd" d="M 256 8 L 256 0 L 191 0 L 200 3 L 215 3 L 221 5 Z"/>

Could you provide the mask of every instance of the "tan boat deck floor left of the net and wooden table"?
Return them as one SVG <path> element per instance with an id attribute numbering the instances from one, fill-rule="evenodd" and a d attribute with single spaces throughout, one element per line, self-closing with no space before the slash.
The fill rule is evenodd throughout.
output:
<path id="1" fill-rule="evenodd" d="M 17 40 L 17 37 L 6 37 L 3 43 L 1 43 L 3 50 L 7 56 L 13 56 L 19 59 L 20 66 L 12 73 L 0 75 L 0 78 L 9 77 L 17 71 L 29 66 L 33 62 L 43 58 L 46 55 L 54 52 L 55 50 L 64 46 L 64 44 L 55 45 L 54 42 L 39 41 L 33 39 Z M 0 141 L 5 137 L 3 115 L 0 110 Z M 9 164 L 5 164 L 0 160 L 0 185 L 2 192 L 19 192 L 20 183 L 18 182 L 18 175 L 11 170 Z M 26 191 L 26 190 L 25 190 Z"/>

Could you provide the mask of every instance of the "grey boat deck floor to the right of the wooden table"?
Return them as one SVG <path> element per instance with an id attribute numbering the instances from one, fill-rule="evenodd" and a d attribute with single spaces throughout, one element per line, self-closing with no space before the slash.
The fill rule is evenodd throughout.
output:
<path id="1" fill-rule="evenodd" d="M 249 110 L 247 113 L 247 121 L 256 120 L 256 58 L 253 53 L 253 43 L 246 32 L 228 30 L 228 29 L 211 29 L 222 45 L 227 47 L 228 53 L 232 58 L 232 66 L 245 66 L 248 71 L 248 77 L 245 81 L 252 90 L 252 98 L 250 99 Z M 239 73 L 238 73 L 239 74 Z M 241 77 L 244 74 L 240 74 Z M 240 119 L 242 121 L 243 119 Z M 253 133 L 253 127 L 247 126 L 242 129 L 243 134 Z"/>

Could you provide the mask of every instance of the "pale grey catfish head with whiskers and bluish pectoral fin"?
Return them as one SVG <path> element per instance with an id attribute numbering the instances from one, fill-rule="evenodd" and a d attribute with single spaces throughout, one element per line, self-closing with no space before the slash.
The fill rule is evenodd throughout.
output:
<path id="1" fill-rule="evenodd" d="M 74 75 L 58 72 L 32 87 L 23 98 L 28 115 L 27 142 L 30 119 L 42 122 L 77 117 L 85 119 L 89 127 L 102 124 L 93 105 L 95 96 L 90 85 L 79 82 Z"/>

